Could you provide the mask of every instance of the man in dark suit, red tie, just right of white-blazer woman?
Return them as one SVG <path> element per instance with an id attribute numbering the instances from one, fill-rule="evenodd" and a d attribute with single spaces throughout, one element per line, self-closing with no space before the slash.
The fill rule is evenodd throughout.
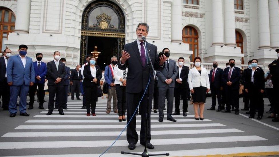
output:
<path id="1" fill-rule="evenodd" d="M 218 67 L 218 62 L 213 62 L 213 69 L 210 70 L 209 74 L 209 82 L 210 82 L 210 90 L 211 90 L 211 98 L 212 98 L 212 105 L 211 108 L 207 110 L 215 110 L 216 106 L 216 95 L 218 100 L 218 109 L 217 112 L 222 111 L 222 98 L 221 98 L 221 88 L 222 88 L 222 77 L 223 77 L 223 69 Z"/>

